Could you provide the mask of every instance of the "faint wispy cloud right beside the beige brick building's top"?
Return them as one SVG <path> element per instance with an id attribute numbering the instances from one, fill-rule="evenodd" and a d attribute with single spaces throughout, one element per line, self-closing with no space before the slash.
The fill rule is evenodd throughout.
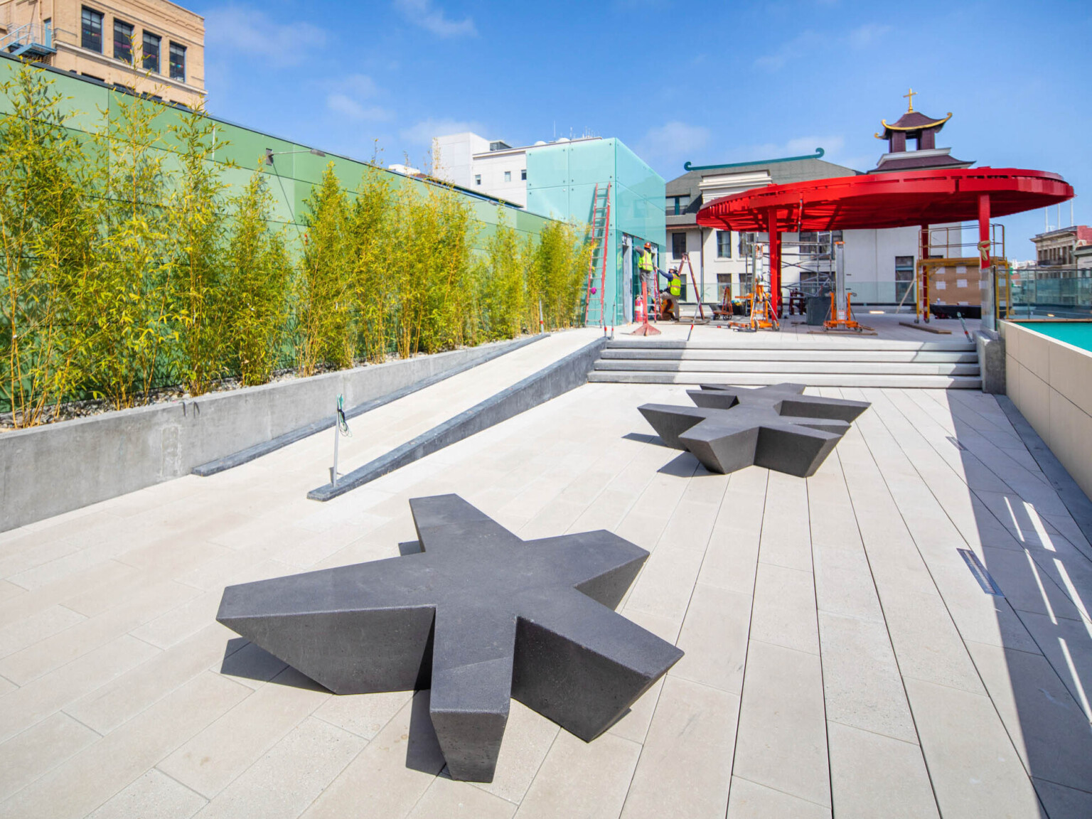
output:
<path id="1" fill-rule="evenodd" d="M 247 5 L 229 3 L 205 12 L 205 46 L 221 51 L 219 58 L 247 55 L 277 68 L 299 66 L 327 39 L 327 33 L 311 23 L 274 23 L 265 12 Z"/>

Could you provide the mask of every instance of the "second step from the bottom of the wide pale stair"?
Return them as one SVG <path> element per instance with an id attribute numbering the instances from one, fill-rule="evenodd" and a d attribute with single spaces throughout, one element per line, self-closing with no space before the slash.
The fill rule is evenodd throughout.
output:
<path id="1" fill-rule="evenodd" d="M 600 359 L 596 371 L 641 372 L 808 372 L 860 376 L 977 376 L 978 363 L 900 364 L 877 361 L 613 361 Z"/>

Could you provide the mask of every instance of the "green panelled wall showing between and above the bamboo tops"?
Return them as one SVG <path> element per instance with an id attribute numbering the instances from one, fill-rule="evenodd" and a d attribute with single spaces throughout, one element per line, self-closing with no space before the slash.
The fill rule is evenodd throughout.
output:
<path id="1" fill-rule="evenodd" d="M 0 56 L 0 83 L 12 79 L 22 63 L 15 59 Z M 54 81 L 54 88 L 64 97 L 63 110 L 68 112 L 67 123 L 70 129 L 86 134 L 93 133 L 103 122 L 103 116 L 118 116 L 118 102 L 126 98 L 121 92 L 112 91 L 103 83 L 75 76 L 62 71 L 48 70 L 49 79 Z M 10 105 L 7 97 L 0 95 L 0 114 L 7 114 Z M 159 117 L 163 147 L 170 151 L 170 133 L 168 127 L 177 121 L 179 111 L 170 106 L 163 106 Z M 210 117 L 216 123 L 216 135 L 221 140 L 227 140 L 230 144 L 223 151 L 218 151 L 215 161 L 223 165 L 222 173 L 224 180 L 230 185 L 227 190 L 228 195 L 240 192 L 247 185 L 253 169 L 259 166 L 265 155 L 265 149 L 274 152 L 281 151 L 302 151 L 305 153 L 286 154 L 274 157 L 272 166 L 263 166 L 264 173 L 270 177 L 270 192 L 273 194 L 275 205 L 273 222 L 274 225 L 287 226 L 286 238 L 295 244 L 302 235 L 301 217 L 305 213 L 304 200 L 310 194 L 311 188 L 318 185 L 325 170 L 327 164 L 333 162 L 334 171 L 341 180 L 342 187 L 351 194 L 360 183 L 360 178 L 366 170 L 372 173 L 389 174 L 393 183 L 425 186 L 428 182 L 419 179 L 403 177 L 389 170 L 377 170 L 370 168 L 366 163 L 351 159 L 345 156 L 337 156 L 328 153 L 325 157 L 314 156 L 308 153 L 312 147 L 322 149 L 321 145 L 304 145 L 290 140 L 283 140 L 277 136 L 256 131 L 251 128 L 227 122 L 215 117 Z M 227 163 L 235 162 L 238 167 L 227 167 Z M 173 167 L 170 157 L 164 163 L 169 169 Z M 463 194 L 470 203 L 474 217 L 480 223 L 480 229 L 475 237 L 473 246 L 483 249 L 485 241 L 495 233 L 497 227 L 497 204 L 483 200 L 471 194 Z M 549 219 L 535 213 L 527 213 L 511 205 L 505 205 L 505 213 L 509 226 L 519 230 L 522 235 L 537 235 Z M 293 226 L 298 229 L 293 229 Z M 295 236 L 294 236 L 295 235 Z"/>

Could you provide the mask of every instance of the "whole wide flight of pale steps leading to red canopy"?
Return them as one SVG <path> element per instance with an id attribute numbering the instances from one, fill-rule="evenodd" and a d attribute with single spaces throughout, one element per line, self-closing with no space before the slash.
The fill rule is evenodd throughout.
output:
<path id="1" fill-rule="evenodd" d="M 963 341 L 869 337 L 684 342 L 615 339 L 595 361 L 596 383 L 775 384 L 981 389 L 978 353 Z"/>

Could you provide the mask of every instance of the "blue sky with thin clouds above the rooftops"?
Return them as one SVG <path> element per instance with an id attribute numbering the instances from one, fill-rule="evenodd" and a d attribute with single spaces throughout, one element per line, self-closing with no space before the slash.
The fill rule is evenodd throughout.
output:
<path id="1" fill-rule="evenodd" d="M 913 86 L 916 109 L 953 112 L 954 156 L 1060 173 L 1092 223 L 1088 2 L 186 4 L 205 15 L 211 112 L 357 158 L 419 165 L 431 135 L 470 129 L 617 136 L 666 179 L 819 146 L 866 170 Z M 1031 258 L 1043 212 L 1005 223 Z"/>

